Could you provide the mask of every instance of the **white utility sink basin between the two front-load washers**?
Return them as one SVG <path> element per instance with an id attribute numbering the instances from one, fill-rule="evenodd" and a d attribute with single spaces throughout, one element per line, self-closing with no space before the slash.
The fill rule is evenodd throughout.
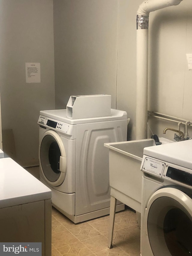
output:
<path id="1" fill-rule="evenodd" d="M 173 143 L 163 137 L 162 144 Z M 143 172 L 140 170 L 143 149 L 155 146 L 154 139 L 105 143 L 109 148 L 111 196 L 141 212 L 141 187 Z M 161 145 L 158 145 L 161 147 Z"/>

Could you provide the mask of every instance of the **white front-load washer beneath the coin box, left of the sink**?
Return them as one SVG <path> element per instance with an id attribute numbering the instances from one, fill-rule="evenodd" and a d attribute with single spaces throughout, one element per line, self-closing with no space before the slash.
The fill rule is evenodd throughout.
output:
<path id="1" fill-rule="evenodd" d="M 52 204 L 73 222 L 110 211 L 109 160 L 104 143 L 127 139 L 127 113 L 71 119 L 66 110 L 40 111 L 40 179 Z M 119 202 L 117 211 L 124 209 Z"/>

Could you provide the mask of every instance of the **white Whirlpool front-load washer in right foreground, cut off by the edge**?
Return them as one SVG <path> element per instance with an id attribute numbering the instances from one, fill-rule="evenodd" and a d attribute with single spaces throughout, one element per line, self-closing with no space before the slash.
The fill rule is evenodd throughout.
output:
<path id="1" fill-rule="evenodd" d="M 141 256 L 192 254 L 192 140 L 144 148 Z"/>

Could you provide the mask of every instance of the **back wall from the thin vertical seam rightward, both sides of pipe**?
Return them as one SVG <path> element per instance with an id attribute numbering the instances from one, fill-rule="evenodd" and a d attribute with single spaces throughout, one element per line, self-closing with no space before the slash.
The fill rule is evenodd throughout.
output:
<path id="1" fill-rule="evenodd" d="M 136 30 L 135 14 L 142 1 L 119 1 L 119 44 L 117 73 L 117 108 L 131 118 L 128 139 L 135 139 L 136 112 Z M 132 11 L 130 11 L 132 10 Z M 192 120 L 192 71 L 188 70 L 186 53 L 192 53 L 192 2 L 184 0 L 178 6 L 149 15 L 149 110 Z M 166 135 L 166 127 L 177 124 L 157 119 L 149 120 L 153 133 Z M 182 128 L 183 129 L 183 128 Z M 191 128 L 189 135 L 192 136 Z M 149 130 L 148 137 L 151 137 Z"/>

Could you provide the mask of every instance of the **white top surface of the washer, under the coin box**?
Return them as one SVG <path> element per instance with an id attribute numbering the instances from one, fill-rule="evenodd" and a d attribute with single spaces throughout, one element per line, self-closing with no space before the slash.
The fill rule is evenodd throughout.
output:
<path id="1" fill-rule="evenodd" d="M 65 122 L 65 123 L 71 124 L 71 125 L 114 121 L 114 120 L 127 120 L 127 113 L 125 111 L 116 110 L 116 109 L 111 109 L 111 116 L 82 118 L 82 119 L 67 118 L 67 110 L 66 109 L 42 110 L 42 111 L 40 111 L 40 115 L 58 120 L 58 122 L 61 121 L 61 122 Z"/>

